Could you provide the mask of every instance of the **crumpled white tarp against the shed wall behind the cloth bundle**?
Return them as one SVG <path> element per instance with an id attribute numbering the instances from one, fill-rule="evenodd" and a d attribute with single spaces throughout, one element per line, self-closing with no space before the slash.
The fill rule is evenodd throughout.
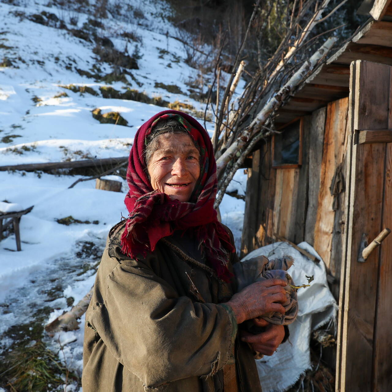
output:
<path id="1" fill-rule="evenodd" d="M 307 242 L 299 243 L 298 247 L 321 260 L 318 253 Z M 294 265 L 288 273 L 297 286 L 308 284 L 305 275 L 314 275 L 310 287 L 298 289 L 298 317 L 289 326 L 289 341 L 280 345 L 274 355 L 256 360 L 263 392 L 281 392 L 287 390 L 305 370 L 311 367 L 310 333 L 328 321 L 335 321 L 338 306 L 328 288 L 323 261 L 315 263 L 285 242 L 276 242 L 256 249 L 243 260 L 260 255 L 269 259 L 281 258 L 284 255 L 292 256 Z"/>

